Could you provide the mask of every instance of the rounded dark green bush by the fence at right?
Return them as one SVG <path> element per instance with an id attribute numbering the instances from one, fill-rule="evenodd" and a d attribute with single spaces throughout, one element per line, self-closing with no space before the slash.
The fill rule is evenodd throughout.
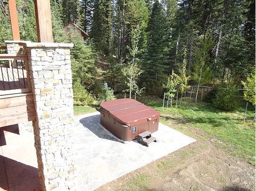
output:
<path id="1" fill-rule="evenodd" d="M 239 92 L 235 84 L 222 85 L 216 91 L 216 97 L 213 99 L 216 108 L 224 111 L 234 111 L 238 108 Z"/>

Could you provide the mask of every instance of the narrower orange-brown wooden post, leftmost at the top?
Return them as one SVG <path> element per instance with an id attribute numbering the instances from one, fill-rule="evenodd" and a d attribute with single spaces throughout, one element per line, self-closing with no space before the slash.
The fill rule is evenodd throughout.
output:
<path id="1" fill-rule="evenodd" d="M 10 20 L 13 32 L 13 40 L 20 40 L 20 29 L 15 0 L 8 0 Z"/>

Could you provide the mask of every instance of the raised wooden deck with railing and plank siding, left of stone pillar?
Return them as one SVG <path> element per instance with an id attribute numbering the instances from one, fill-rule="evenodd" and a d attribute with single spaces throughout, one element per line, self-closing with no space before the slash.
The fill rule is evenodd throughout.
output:
<path id="1" fill-rule="evenodd" d="M 35 119 L 26 63 L 27 55 L 0 54 L 0 127 Z"/>

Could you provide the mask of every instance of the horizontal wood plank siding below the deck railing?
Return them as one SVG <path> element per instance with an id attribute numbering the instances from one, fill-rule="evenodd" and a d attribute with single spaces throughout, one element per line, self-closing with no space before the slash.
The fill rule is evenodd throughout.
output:
<path id="1" fill-rule="evenodd" d="M 0 97 L 0 127 L 33 121 L 35 107 L 32 93 Z"/>

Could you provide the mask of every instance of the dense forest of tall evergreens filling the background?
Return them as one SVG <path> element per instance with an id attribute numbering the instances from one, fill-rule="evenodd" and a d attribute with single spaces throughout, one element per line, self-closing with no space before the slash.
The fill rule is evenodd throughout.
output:
<path id="1" fill-rule="evenodd" d="M 12 40 L 5 2 L 2 45 Z M 36 42 L 33 0 L 16 3 L 21 39 Z M 255 84 L 255 0 L 51 0 L 51 14 L 54 42 L 74 43 L 74 92 L 87 95 L 78 105 L 100 98 L 102 87 L 172 96 L 175 85 L 184 92 L 189 85 L 243 88 L 249 78 Z M 65 33 L 69 22 L 89 40 Z"/>

